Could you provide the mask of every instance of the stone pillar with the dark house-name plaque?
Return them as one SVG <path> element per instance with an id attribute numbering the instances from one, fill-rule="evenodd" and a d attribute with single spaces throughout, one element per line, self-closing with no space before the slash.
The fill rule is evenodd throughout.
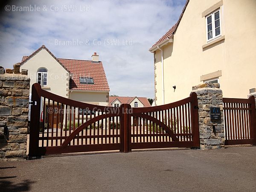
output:
<path id="1" fill-rule="evenodd" d="M 192 92 L 198 95 L 200 148 L 224 148 L 223 96 L 220 84 L 200 84 L 192 87 Z M 220 108 L 221 120 L 211 120 L 211 107 Z"/>

